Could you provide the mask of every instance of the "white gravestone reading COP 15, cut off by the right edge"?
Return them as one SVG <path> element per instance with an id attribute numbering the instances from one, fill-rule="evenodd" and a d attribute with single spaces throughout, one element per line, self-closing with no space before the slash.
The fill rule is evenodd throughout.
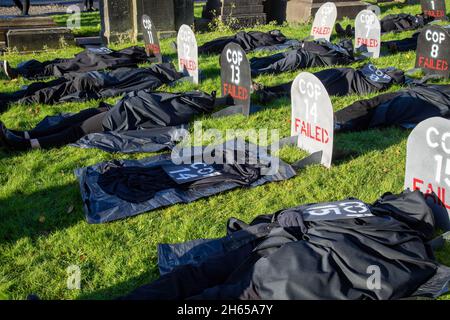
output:
<path id="1" fill-rule="evenodd" d="M 427 119 L 409 135 L 406 188 L 422 191 L 433 208 L 438 227 L 450 230 L 450 120 Z"/>

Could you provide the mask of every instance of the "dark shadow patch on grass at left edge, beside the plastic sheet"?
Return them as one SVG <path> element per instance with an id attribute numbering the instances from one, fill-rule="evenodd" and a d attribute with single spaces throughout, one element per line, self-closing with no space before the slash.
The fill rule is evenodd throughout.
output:
<path id="1" fill-rule="evenodd" d="M 76 183 L 32 193 L 16 191 L 0 199 L 0 243 L 47 236 L 83 220 L 82 212 Z"/>

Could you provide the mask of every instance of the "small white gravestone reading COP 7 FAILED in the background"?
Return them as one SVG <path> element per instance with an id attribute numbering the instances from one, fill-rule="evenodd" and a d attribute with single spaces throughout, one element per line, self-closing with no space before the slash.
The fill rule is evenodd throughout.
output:
<path id="1" fill-rule="evenodd" d="M 365 46 L 372 58 L 380 57 L 380 20 L 370 10 L 362 10 L 355 20 L 355 49 Z"/>

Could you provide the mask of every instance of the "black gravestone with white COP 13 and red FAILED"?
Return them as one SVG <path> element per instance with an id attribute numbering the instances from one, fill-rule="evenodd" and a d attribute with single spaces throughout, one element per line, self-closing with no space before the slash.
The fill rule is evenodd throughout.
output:
<path id="1" fill-rule="evenodd" d="M 220 56 L 220 76 L 222 96 L 231 95 L 237 106 L 242 106 L 242 113 L 250 114 L 250 93 L 252 76 L 250 63 L 245 51 L 236 43 L 230 43 Z"/>

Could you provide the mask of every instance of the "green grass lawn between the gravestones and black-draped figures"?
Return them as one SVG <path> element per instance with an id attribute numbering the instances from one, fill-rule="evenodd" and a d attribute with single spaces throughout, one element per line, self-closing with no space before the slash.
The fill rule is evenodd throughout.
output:
<path id="1" fill-rule="evenodd" d="M 450 1 L 447 1 L 447 6 Z M 382 14 L 419 13 L 420 6 L 401 3 L 381 5 Z M 199 15 L 200 7 L 196 8 Z M 97 32 L 95 13 L 83 14 L 82 32 Z M 64 16 L 60 17 L 62 21 Z M 349 23 L 344 21 L 344 26 Z M 308 36 L 311 25 L 273 25 L 252 29 L 269 31 L 280 28 L 289 38 Z M 84 30 L 84 31 L 83 31 Z M 92 31 L 94 30 L 94 31 Z M 251 29 L 249 29 L 251 30 Z M 198 34 L 200 44 L 234 31 L 218 26 L 214 31 Z M 401 39 L 413 32 L 387 34 L 383 40 Z M 336 40 L 336 38 L 332 39 Z M 162 51 L 176 60 L 171 46 L 174 39 L 162 40 Z M 123 48 L 122 43 L 113 48 Z M 27 60 L 71 57 L 80 48 L 23 55 L 14 52 L 4 58 L 12 65 Z M 249 58 L 264 53 L 249 54 Z M 205 79 L 199 86 L 180 83 L 161 90 L 172 92 L 200 89 L 220 91 L 219 56 L 201 56 L 200 68 Z M 395 66 L 403 70 L 414 67 L 415 53 L 407 52 L 373 61 L 378 67 Z M 354 64 L 352 67 L 362 65 Z M 320 69 L 308 70 L 315 72 Z M 254 79 L 264 85 L 293 80 L 298 72 L 265 75 Z M 1 91 L 15 91 L 29 82 L 24 79 L 0 79 Z M 400 87 L 393 86 L 390 91 Z M 339 110 L 367 96 L 332 97 Z M 114 103 L 119 98 L 106 101 Z M 12 105 L 0 119 L 8 128 L 29 129 L 47 115 L 76 112 L 96 107 L 98 101 L 47 105 Z M 198 117 L 203 130 L 279 129 L 280 136 L 290 134 L 290 100 L 278 99 L 260 112 L 246 118 L 241 115 L 213 119 Z M 192 130 L 192 129 L 191 129 Z M 90 225 L 84 218 L 78 182 L 73 170 L 113 159 L 133 159 L 149 154 L 109 154 L 95 149 L 66 146 L 52 150 L 9 152 L 0 150 L 0 299 L 24 299 L 35 293 L 43 299 L 108 299 L 155 280 L 158 277 L 158 243 L 184 242 L 197 238 L 225 235 L 226 221 L 236 217 L 249 222 L 260 214 L 273 213 L 300 204 L 356 197 L 373 202 L 385 192 L 403 190 L 406 140 L 410 131 L 397 128 L 336 134 L 340 149 L 358 152 L 358 156 L 336 163 L 331 169 L 320 165 L 308 167 L 288 181 L 252 189 L 238 189 L 190 204 L 179 204 L 150 213 L 116 221 Z M 256 142 L 256 141 L 253 141 Z M 283 148 L 279 155 L 288 162 L 305 153 Z M 450 246 L 438 252 L 439 260 L 450 266 Z M 66 268 L 81 269 L 81 290 L 67 289 Z M 450 295 L 442 297 L 450 299 Z"/>

